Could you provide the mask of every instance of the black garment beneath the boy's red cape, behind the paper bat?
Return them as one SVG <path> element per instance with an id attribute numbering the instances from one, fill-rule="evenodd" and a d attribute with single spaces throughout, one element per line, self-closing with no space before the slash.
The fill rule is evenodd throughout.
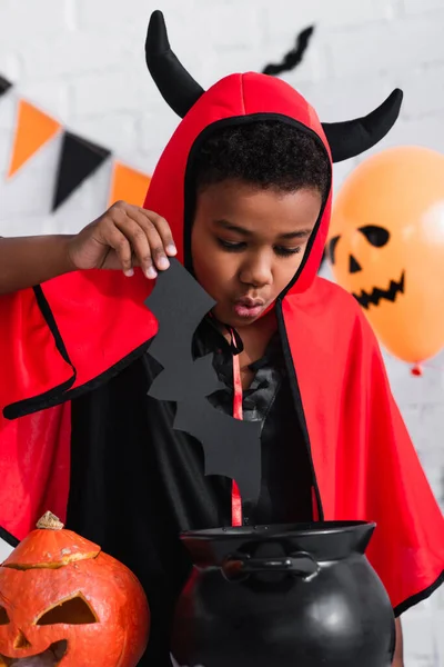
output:
<path id="1" fill-rule="evenodd" d="M 209 400 L 232 414 L 232 351 L 204 322 L 194 352 L 209 350 L 224 385 Z M 311 468 L 279 338 L 253 367 L 243 411 L 244 419 L 262 422 L 262 487 L 248 519 L 256 525 L 310 520 Z M 171 616 L 191 568 L 179 534 L 231 524 L 232 480 L 204 476 L 200 442 L 172 428 L 175 405 L 147 394 L 160 370 L 147 354 L 72 402 L 67 527 L 101 545 L 142 583 L 152 614 L 144 667 L 170 667 Z"/>

